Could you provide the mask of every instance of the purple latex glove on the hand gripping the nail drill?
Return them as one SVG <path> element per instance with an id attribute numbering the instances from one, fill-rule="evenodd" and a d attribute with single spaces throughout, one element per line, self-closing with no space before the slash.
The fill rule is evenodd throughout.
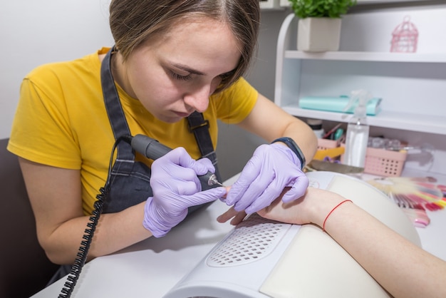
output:
<path id="1" fill-rule="evenodd" d="M 150 186 L 153 197 L 145 203 L 142 225 L 155 237 L 162 237 L 187 215 L 187 208 L 212 202 L 224 195 L 225 187 L 202 190 L 197 175 L 215 171 L 207 158 L 194 160 L 185 148 L 176 148 L 152 164 Z"/>

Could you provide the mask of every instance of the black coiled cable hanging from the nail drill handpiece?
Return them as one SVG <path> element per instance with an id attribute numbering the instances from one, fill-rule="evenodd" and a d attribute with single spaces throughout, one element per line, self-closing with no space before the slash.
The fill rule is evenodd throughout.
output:
<path id="1" fill-rule="evenodd" d="M 85 228 L 85 234 L 82 237 L 83 240 L 81 241 L 81 246 L 79 247 L 78 254 L 76 255 L 76 260 L 71 265 L 70 273 L 68 273 L 68 276 L 66 278 L 67 280 L 65 284 L 63 284 L 61 294 L 58 295 L 58 298 L 71 297 L 74 287 L 76 287 L 76 283 L 78 282 L 79 276 L 81 275 L 85 260 L 87 260 L 88 250 L 90 250 L 91 241 L 93 240 L 93 235 L 95 234 L 100 215 L 102 214 L 104 202 L 108 197 L 108 192 L 110 191 L 110 176 L 111 170 L 113 168 L 113 155 L 116 148 L 118 147 L 118 143 L 121 140 L 126 140 L 126 138 L 128 138 L 127 135 L 118 138 L 118 140 L 116 140 L 115 144 L 113 145 L 113 149 L 110 155 L 110 163 L 108 165 L 107 180 L 105 181 L 104 187 L 100 187 L 100 193 L 96 196 L 96 199 L 98 200 L 96 200 L 95 204 L 93 205 L 94 210 L 89 218 L 90 221 Z"/>

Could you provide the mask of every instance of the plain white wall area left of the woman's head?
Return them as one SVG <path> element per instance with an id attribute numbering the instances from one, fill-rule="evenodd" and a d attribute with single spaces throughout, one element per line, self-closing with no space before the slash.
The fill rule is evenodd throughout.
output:
<path id="1" fill-rule="evenodd" d="M 112 46 L 110 0 L 0 1 L 0 138 L 8 138 L 22 78 L 38 65 Z"/>

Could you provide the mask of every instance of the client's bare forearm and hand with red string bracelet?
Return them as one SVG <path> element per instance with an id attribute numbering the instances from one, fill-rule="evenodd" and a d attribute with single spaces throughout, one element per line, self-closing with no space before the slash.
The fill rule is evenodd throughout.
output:
<path id="1" fill-rule="evenodd" d="M 236 215 L 232 224 L 237 225 L 242 213 L 228 210 L 218 220 L 226 222 Z M 258 213 L 270 220 L 318 225 L 393 297 L 446 297 L 444 260 L 335 192 L 308 187 L 299 200 L 282 203 L 278 198 Z"/>

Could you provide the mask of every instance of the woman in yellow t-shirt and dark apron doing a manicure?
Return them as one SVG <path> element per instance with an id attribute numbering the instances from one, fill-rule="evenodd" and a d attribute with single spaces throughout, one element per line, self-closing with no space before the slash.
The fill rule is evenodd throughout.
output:
<path id="1" fill-rule="evenodd" d="M 110 29 L 114 48 L 36 68 L 21 86 L 8 148 L 19 156 L 52 262 L 75 260 L 106 182 L 90 258 L 162 237 L 188 207 L 226 195 L 236 210 L 256 212 L 284 187 L 284 201 L 304 194 L 301 168 L 316 137 L 242 78 L 259 31 L 258 1 L 113 0 Z M 199 158 L 216 161 L 217 119 L 272 142 L 256 149 L 229 193 L 202 191 L 197 178 L 216 170 Z M 150 160 L 120 142 L 137 134 L 176 149 L 150 170 Z"/>

